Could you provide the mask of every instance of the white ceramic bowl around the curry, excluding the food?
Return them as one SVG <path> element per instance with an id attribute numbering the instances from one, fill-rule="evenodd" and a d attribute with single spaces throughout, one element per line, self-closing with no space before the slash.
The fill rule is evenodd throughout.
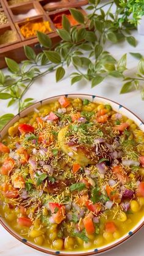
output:
<path id="1" fill-rule="evenodd" d="M 7 133 L 8 129 L 10 126 L 13 125 L 13 123 L 17 122 L 20 117 L 24 117 L 25 115 L 27 115 L 28 113 L 32 112 L 34 110 L 34 108 L 38 108 L 41 105 L 45 105 L 50 103 L 51 101 L 54 100 L 58 100 L 59 97 L 62 95 L 58 95 L 56 97 L 51 97 L 51 98 L 47 98 L 45 100 L 41 100 L 35 104 L 32 104 L 32 106 L 30 106 L 29 108 L 24 109 L 24 111 L 21 111 L 19 114 L 15 115 L 15 117 L 13 117 L 12 120 L 10 120 L 9 123 L 7 123 L 7 125 L 5 125 L 5 127 L 1 130 L 0 136 L 1 138 L 5 136 L 5 134 Z M 139 119 L 139 117 L 137 117 L 137 115 L 133 114 L 131 111 L 129 111 L 128 109 L 124 108 L 123 106 L 121 106 L 120 104 L 108 100 L 107 98 L 103 98 L 103 97 L 97 97 L 95 95 L 87 95 L 87 94 L 69 94 L 69 95 L 65 95 L 65 97 L 68 98 L 81 98 L 82 100 L 84 98 L 87 98 L 90 101 L 96 102 L 96 103 L 103 103 L 103 104 L 110 104 L 112 106 L 112 108 L 117 111 L 120 112 L 123 115 L 126 115 L 126 117 L 128 117 L 129 119 L 134 120 L 134 122 L 137 124 L 137 126 L 139 126 L 140 130 L 142 130 L 144 132 L 144 123 L 142 122 L 142 120 Z M 46 247 L 42 247 L 42 246 L 37 246 L 34 243 L 31 243 L 30 241 L 27 241 L 25 238 L 23 238 L 21 235 L 18 235 L 18 233 L 16 233 L 14 230 L 12 230 L 11 227 L 9 227 L 9 225 L 7 224 L 7 222 L 0 216 L 0 222 L 2 224 L 2 226 L 13 236 L 15 236 L 16 239 L 18 239 L 19 241 L 21 241 L 24 244 L 27 244 L 27 246 L 31 246 L 32 248 L 36 249 L 37 251 L 41 251 L 41 252 L 45 252 L 46 254 L 50 254 L 50 255 L 63 255 L 63 256 L 90 256 L 90 255 L 96 255 L 96 254 L 101 254 L 103 252 L 109 251 L 110 249 L 113 249 L 114 247 L 122 244 L 124 241 L 128 240 L 129 238 L 131 238 L 132 235 L 134 235 L 136 232 L 138 232 L 144 225 L 144 216 L 143 218 L 137 223 L 137 225 L 135 225 L 131 230 L 129 230 L 128 233 L 126 233 L 125 235 L 121 236 L 119 239 L 113 241 L 112 243 L 106 244 L 105 246 L 101 246 L 95 249 L 90 249 L 90 250 L 85 250 L 85 251 L 56 251 L 56 250 L 52 250 L 52 249 L 48 249 Z"/>

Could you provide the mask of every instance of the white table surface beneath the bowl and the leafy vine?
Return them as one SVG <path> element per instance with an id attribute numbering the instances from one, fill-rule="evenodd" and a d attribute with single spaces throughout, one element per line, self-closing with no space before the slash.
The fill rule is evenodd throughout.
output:
<path id="1" fill-rule="evenodd" d="M 126 42 L 111 45 L 107 43 L 105 48 L 107 51 L 113 54 L 113 57 L 120 59 L 124 53 L 134 52 L 141 53 L 144 56 L 144 36 L 137 34 L 137 31 L 132 32 L 132 35 L 137 38 L 137 47 L 134 48 Z M 126 71 L 128 76 L 131 76 L 136 71 L 138 60 L 134 59 L 128 54 L 128 68 Z M 91 89 L 90 82 L 81 81 L 79 84 L 71 86 L 69 74 L 72 73 L 73 67 L 69 67 L 65 78 L 56 83 L 54 73 L 43 76 L 35 81 L 31 89 L 26 93 L 25 97 L 32 97 L 35 100 L 43 100 L 51 96 L 67 93 L 88 93 L 92 95 L 98 95 L 109 98 L 110 100 L 117 101 L 118 103 L 126 106 L 132 112 L 137 114 L 144 121 L 144 101 L 140 98 L 140 93 L 135 91 L 127 94 L 120 95 L 120 89 L 122 86 L 122 79 L 108 78 L 98 86 Z M 4 70 L 7 73 L 6 70 Z M 6 101 L 0 101 L 0 115 L 6 113 L 16 114 L 16 107 L 11 106 L 7 108 Z M 113 249 L 112 251 L 104 253 L 106 256 L 143 256 L 143 235 L 144 229 L 141 229 L 137 234 L 131 237 L 121 246 Z M 26 246 L 20 241 L 11 236 L 3 227 L 0 227 L 0 255 L 2 256 L 38 256 L 45 255 L 41 252 L 35 251 L 31 247 Z"/>

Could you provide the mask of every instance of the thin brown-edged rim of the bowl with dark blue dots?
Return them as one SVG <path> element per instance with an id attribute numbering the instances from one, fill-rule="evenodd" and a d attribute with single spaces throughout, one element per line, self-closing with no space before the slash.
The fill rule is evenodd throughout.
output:
<path id="1" fill-rule="evenodd" d="M 113 101 L 113 100 L 110 100 L 109 98 L 105 98 L 105 97 L 101 97 L 101 96 L 97 96 L 97 95 L 92 95 L 92 94 L 87 94 L 87 93 L 68 93 L 68 94 L 60 94 L 60 95 L 56 95 L 56 96 L 52 96 L 52 97 L 48 97 L 48 98 L 45 98 L 43 100 L 40 100 L 40 101 L 36 101 L 34 104 L 32 104 L 31 106 L 25 108 L 23 111 L 19 112 L 18 114 L 16 114 L 3 128 L 2 130 L 0 131 L 0 141 L 2 139 L 2 136 L 1 136 L 1 133 L 7 129 L 7 126 L 9 126 L 9 123 L 13 123 L 15 122 L 15 119 L 16 117 L 19 117 L 19 119 L 21 118 L 21 114 L 23 114 L 23 112 L 26 112 L 26 111 L 29 111 L 29 109 L 31 109 L 31 111 L 34 111 L 34 108 L 35 108 L 35 104 L 37 103 L 40 103 L 41 106 L 42 106 L 42 103 L 43 101 L 45 101 L 45 104 L 48 104 L 48 100 L 53 100 L 55 98 L 59 98 L 61 96 L 65 96 L 65 97 L 68 97 L 68 98 L 73 98 L 73 97 L 92 97 L 92 100 L 94 98 L 98 98 L 99 100 L 106 100 L 106 101 L 110 101 L 112 103 L 115 103 L 116 105 L 119 105 L 120 107 L 126 109 L 126 111 L 130 112 L 132 115 L 134 115 L 134 117 L 136 117 L 143 125 L 143 120 L 140 119 L 136 114 L 134 114 L 134 112 L 130 111 L 128 108 L 124 107 L 123 105 L 117 103 L 116 101 Z M 138 227 L 135 229 L 135 226 L 132 228 L 134 229 L 132 232 L 129 232 L 128 235 L 127 233 L 124 235 L 124 238 L 123 239 L 120 239 L 120 241 L 117 241 L 115 243 L 115 241 L 113 241 L 113 244 L 106 244 L 106 247 L 102 248 L 102 249 L 93 249 L 93 251 L 86 251 L 86 252 L 82 252 L 82 251 L 74 251 L 74 254 L 73 252 L 69 252 L 69 251 L 56 251 L 56 250 L 53 250 L 53 249 L 47 249 L 46 247 L 42 247 L 42 246 L 37 246 L 36 244 L 33 244 L 31 241 L 27 241 L 25 238 L 22 238 L 21 235 L 19 235 L 18 233 L 15 232 L 15 230 L 13 230 L 9 224 L 5 224 L 6 222 L 5 221 L 2 221 L 2 217 L 0 216 L 0 223 L 1 225 L 4 227 L 5 230 L 7 230 L 7 232 L 10 233 L 10 235 L 14 236 L 17 240 L 21 241 L 22 243 L 26 244 L 27 246 L 29 247 L 32 247 L 33 249 L 36 249 L 37 251 L 40 251 L 40 252 L 45 252 L 46 254 L 50 254 L 50 255 L 62 255 L 62 256 L 80 256 L 80 255 L 84 255 L 84 256 L 89 256 L 89 255 L 95 255 L 95 254 L 102 254 L 103 252 L 107 252 L 107 251 L 110 251 L 110 249 L 114 249 L 115 247 L 117 246 L 120 246 L 121 243 L 124 243 L 124 241 L 127 241 L 129 238 L 131 238 L 132 235 L 135 235 L 135 233 L 137 233 L 143 226 L 144 226 L 144 221 L 139 225 Z M 123 236 L 122 236 L 123 237 Z M 121 238 L 122 238 L 121 237 Z M 52 251 L 49 251 L 49 250 L 52 250 Z M 92 249 L 91 249 L 92 250 Z"/>

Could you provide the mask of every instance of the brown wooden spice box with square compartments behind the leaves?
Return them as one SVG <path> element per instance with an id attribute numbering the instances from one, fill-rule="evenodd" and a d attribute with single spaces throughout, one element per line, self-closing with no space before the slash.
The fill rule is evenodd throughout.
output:
<path id="1" fill-rule="evenodd" d="M 55 45 L 59 42 L 60 38 L 53 23 L 54 15 L 59 13 L 68 14 L 70 13 L 70 7 L 77 8 L 85 14 L 81 6 L 88 3 L 87 0 L 28 0 L 27 2 L 9 5 L 9 1 L 10 0 L 0 0 L 0 12 L 4 12 L 8 20 L 7 23 L 0 24 L 0 38 L 5 31 L 13 31 L 15 34 L 15 42 L 5 42 L 4 44 L 0 42 L 0 68 L 6 67 L 5 57 L 9 57 L 16 62 L 21 62 L 21 60 L 26 59 L 23 49 L 24 45 L 31 46 L 35 49 L 36 53 L 41 51 L 36 35 L 24 38 L 21 34 L 20 27 L 27 23 L 27 19 L 30 23 L 49 21 L 52 31 L 46 34 L 49 35 L 52 44 Z M 31 13 L 31 11 L 33 11 L 33 13 Z M 29 13 L 31 13 L 32 16 L 29 16 Z"/>

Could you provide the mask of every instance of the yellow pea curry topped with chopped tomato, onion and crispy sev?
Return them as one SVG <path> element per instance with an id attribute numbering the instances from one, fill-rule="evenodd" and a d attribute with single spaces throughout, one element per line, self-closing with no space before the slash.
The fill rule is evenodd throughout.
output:
<path id="1" fill-rule="evenodd" d="M 0 212 L 23 238 L 79 251 L 117 240 L 144 213 L 144 133 L 110 104 L 60 97 L 0 143 Z"/>

